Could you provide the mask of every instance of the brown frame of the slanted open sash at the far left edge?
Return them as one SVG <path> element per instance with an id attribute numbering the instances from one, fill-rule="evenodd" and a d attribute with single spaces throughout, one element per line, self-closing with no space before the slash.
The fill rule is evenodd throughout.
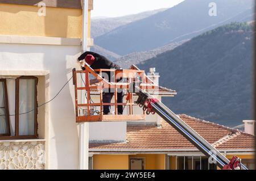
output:
<path id="1" fill-rule="evenodd" d="M 4 90 L 4 94 L 5 94 L 5 115 L 6 115 L 6 125 L 7 125 L 7 133 L 0 134 L 0 137 L 2 137 L 2 136 L 10 136 L 11 135 L 11 127 L 10 127 L 9 102 L 8 102 L 6 79 L 0 78 L 0 82 L 3 82 L 3 90 Z"/>

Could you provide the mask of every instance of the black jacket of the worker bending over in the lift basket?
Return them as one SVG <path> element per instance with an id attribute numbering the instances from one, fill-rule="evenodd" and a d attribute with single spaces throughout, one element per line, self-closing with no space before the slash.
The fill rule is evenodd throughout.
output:
<path id="1" fill-rule="evenodd" d="M 108 58 L 102 56 L 101 54 L 94 53 L 94 52 L 85 52 L 81 54 L 81 56 L 78 58 L 79 60 L 84 60 L 86 55 L 92 54 L 96 58 L 96 60 L 93 62 L 92 65 L 90 65 L 90 68 L 96 70 L 96 69 L 121 69 L 119 65 L 114 64 L 112 61 L 110 61 Z M 108 74 L 109 81 L 113 81 L 114 72 L 110 71 L 102 71 L 102 73 Z M 102 77 L 104 77 L 104 74 L 102 74 Z"/>

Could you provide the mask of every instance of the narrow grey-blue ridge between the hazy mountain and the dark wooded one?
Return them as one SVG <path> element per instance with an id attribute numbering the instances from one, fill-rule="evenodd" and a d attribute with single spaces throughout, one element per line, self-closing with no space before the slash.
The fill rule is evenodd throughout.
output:
<path id="1" fill-rule="evenodd" d="M 156 57 L 158 54 L 161 54 L 163 52 L 166 52 L 168 50 L 175 49 L 176 47 L 179 47 L 183 43 L 187 42 L 188 40 L 182 40 L 175 43 L 170 43 L 168 45 L 165 45 L 163 47 L 159 47 L 153 50 L 143 51 L 143 52 L 134 52 L 127 54 L 126 56 L 122 56 L 117 58 L 115 60 L 115 64 L 121 66 L 123 69 L 128 69 L 132 64 L 136 65 L 140 62 L 146 61 L 150 58 Z"/>

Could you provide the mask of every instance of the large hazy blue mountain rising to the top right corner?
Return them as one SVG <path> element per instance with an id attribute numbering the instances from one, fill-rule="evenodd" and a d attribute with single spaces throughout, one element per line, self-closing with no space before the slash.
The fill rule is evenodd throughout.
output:
<path id="1" fill-rule="evenodd" d="M 96 37 L 94 42 L 112 52 L 126 55 L 191 39 L 231 22 L 254 19 L 253 0 L 215 0 L 216 16 L 209 15 L 212 2 L 185 0 L 171 9 L 117 27 Z"/>

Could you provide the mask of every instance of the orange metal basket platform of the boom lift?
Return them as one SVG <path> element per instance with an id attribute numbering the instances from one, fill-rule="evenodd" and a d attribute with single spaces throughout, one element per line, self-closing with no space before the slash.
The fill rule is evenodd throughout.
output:
<path id="1" fill-rule="evenodd" d="M 113 81 L 109 82 L 102 77 L 102 74 L 111 72 Z M 118 82 L 118 79 L 123 82 Z M 76 122 L 97 122 L 97 121 L 143 121 L 146 118 L 145 112 L 134 103 L 135 95 L 130 94 L 129 86 L 133 82 L 140 82 L 141 89 L 158 89 L 158 86 L 147 77 L 144 70 L 139 70 L 132 65 L 131 69 L 98 69 L 93 70 L 85 65 L 85 70 L 73 69 L 73 85 L 75 85 L 75 107 Z M 113 102 L 103 103 L 104 90 L 114 90 Z M 123 89 L 126 94 L 126 103 L 117 102 L 117 92 Z M 129 95 L 129 96 L 128 96 Z M 94 100 L 93 100 L 94 99 Z M 112 115 L 103 114 L 103 106 L 112 107 Z M 118 106 L 125 107 L 123 115 L 118 115 Z"/>

